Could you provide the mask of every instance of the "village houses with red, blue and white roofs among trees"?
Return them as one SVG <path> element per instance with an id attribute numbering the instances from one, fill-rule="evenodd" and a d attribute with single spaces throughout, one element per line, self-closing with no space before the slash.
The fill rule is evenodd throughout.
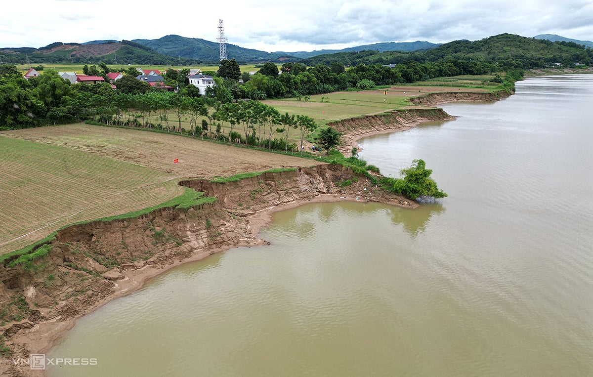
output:
<path id="1" fill-rule="evenodd" d="M 163 78 L 161 71 L 158 69 L 141 69 L 136 68 L 138 71 L 138 76 L 136 79 L 138 81 L 143 81 L 148 83 L 151 87 L 157 88 L 160 90 L 165 91 L 175 91 L 176 88 L 173 88 L 169 85 L 165 85 L 165 79 Z M 166 73 L 166 71 L 165 71 Z M 65 80 L 68 80 L 71 84 L 78 84 L 79 82 L 84 82 L 87 84 L 97 84 L 98 82 L 105 82 L 105 79 L 101 76 L 91 76 L 91 75 L 78 75 L 76 72 L 58 72 L 58 75 Z M 25 79 L 29 79 L 31 77 L 39 76 L 39 72 L 36 69 L 31 68 L 25 73 Z M 122 78 L 123 75 L 120 72 L 109 72 L 107 74 L 107 78 L 109 78 L 111 88 L 117 89 L 114 85 L 114 82 Z M 194 85 L 196 88 L 199 89 L 200 94 L 206 94 L 206 88 L 212 87 L 214 85 L 214 78 L 208 75 L 202 75 L 200 69 L 190 69 L 189 76 L 189 83 L 190 85 Z"/>

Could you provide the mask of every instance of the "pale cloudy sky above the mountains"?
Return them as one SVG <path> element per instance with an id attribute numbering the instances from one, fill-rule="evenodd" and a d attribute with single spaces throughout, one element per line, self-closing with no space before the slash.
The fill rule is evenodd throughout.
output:
<path id="1" fill-rule="evenodd" d="M 479 40 L 501 33 L 593 40 L 591 0 L 29 0 L 2 4 L 0 47 L 168 34 L 274 51 L 387 41 Z"/>

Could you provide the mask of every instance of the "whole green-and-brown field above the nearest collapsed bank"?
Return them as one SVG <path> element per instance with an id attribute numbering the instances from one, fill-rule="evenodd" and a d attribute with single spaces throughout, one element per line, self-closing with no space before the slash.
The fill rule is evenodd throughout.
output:
<path id="1" fill-rule="evenodd" d="M 183 193 L 180 177 L 313 165 L 292 156 L 87 124 L 0 132 L 0 150 L 0 254 L 74 222 L 164 203 Z"/>

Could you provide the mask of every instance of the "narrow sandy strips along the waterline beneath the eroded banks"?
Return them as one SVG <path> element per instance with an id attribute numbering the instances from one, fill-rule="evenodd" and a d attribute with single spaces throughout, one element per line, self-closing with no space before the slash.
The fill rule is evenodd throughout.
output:
<path id="1" fill-rule="evenodd" d="M 454 119 L 454 117 L 451 117 L 449 119 Z M 405 124 L 400 123 L 397 126 L 389 129 L 368 129 L 362 130 L 362 132 L 359 133 L 352 132 L 352 135 L 347 135 L 348 137 L 346 140 L 349 143 L 348 148 L 359 148 L 358 140 L 362 138 L 372 135 L 381 135 L 385 133 L 398 132 L 400 130 L 408 130 L 412 127 L 417 126 L 417 124 L 429 122 L 431 120 L 432 119 L 422 119 L 417 120 L 416 122 L 406 122 Z M 348 150 L 348 152 L 349 151 L 350 150 Z M 95 302 L 88 308 L 86 308 L 84 312 L 82 312 L 82 314 L 75 315 L 74 317 L 66 319 L 62 319 L 60 318 L 60 316 L 58 316 L 50 320 L 36 323 L 31 328 L 23 328 L 23 330 L 20 330 L 17 333 L 15 333 L 14 336 L 12 336 L 11 341 L 14 344 L 22 344 L 25 347 L 24 349 L 28 350 L 28 352 L 30 353 L 45 353 L 59 342 L 59 339 L 63 336 L 63 334 L 65 334 L 67 331 L 71 330 L 75 326 L 76 321 L 78 321 L 79 318 L 82 318 L 85 315 L 94 312 L 95 310 L 105 305 L 106 303 L 112 301 L 113 299 L 120 298 L 135 292 L 136 290 L 144 286 L 146 281 L 148 279 L 151 279 L 152 277 L 156 277 L 161 273 L 164 273 L 165 271 L 180 266 L 181 264 L 203 260 L 204 258 L 208 257 L 208 255 L 220 253 L 221 251 L 226 251 L 234 247 L 251 247 L 266 244 L 267 242 L 263 239 L 260 239 L 258 236 L 260 230 L 264 226 L 269 224 L 272 220 L 272 213 L 279 212 L 281 210 L 292 209 L 308 203 L 373 201 L 382 202 L 388 205 L 398 205 L 397 202 L 390 203 L 389 200 L 366 200 L 365 197 L 362 197 L 362 199 L 363 200 L 356 200 L 356 196 L 347 194 L 321 194 L 313 198 L 295 199 L 291 202 L 280 203 L 278 205 L 268 206 L 264 209 L 257 210 L 257 212 L 253 215 L 246 217 L 248 221 L 246 234 L 247 237 L 244 237 L 244 239 L 241 239 L 239 242 L 234 242 L 234 244 L 224 244 L 220 247 L 209 247 L 207 250 L 196 251 L 195 253 L 192 253 L 192 255 L 190 255 L 189 257 L 173 261 L 173 263 L 167 264 L 165 266 L 163 266 L 162 264 L 146 264 L 145 266 L 138 269 L 122 270 L 120 271 L 120 276 L 117 277 L 117 279 L 112 279 L 114 283 L 113 292 L 107 295 L 106 297 L 100 299 L 99 301 Z M 415 203 L 411 204 L 411 207 L 415 206 L 417 206 Z M 5 368 L 6 365 L 4 365 L 4 363 L 0 365 L 0 372 L 6 372 Z M 19 367 L 17 369 L 20 375 L 45 375 L 42 370 L 30 370 L 26 366 L 24 368 Z"/>

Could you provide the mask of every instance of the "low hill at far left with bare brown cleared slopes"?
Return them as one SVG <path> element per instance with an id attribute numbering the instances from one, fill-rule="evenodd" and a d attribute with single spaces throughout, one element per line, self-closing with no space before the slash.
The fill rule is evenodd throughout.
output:
<path id="1" fill-rule="evenodd" d="M 2 62 L 9 64 L 28 63 L 100 63 L 107 64 L 195 64 L 196 60 L 162 55 L 142 44 L 123 40 L 104 43 L 62 43 L 45 47 L 0 48 Z M 218 58 L 216 59 L 218 60 Z"/>

